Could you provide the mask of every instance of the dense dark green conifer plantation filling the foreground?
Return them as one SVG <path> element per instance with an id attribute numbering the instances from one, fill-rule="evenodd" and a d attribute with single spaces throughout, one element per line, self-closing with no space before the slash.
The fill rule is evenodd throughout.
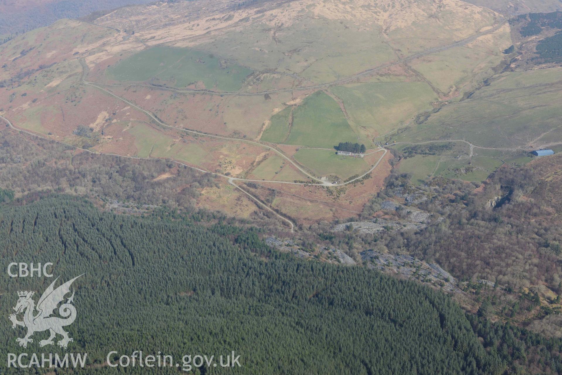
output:
<path id="1" fill-rule="evenodd" d="M 237 348 L 242 367 L 212 373 L 501 374 L 537 348 L 550 373 L 562 370 L 560 357 L 549 354 L 560 352 L 562 340 L 466 315 L 415 282 L 294 259 L 265 245 L 255 228 L 164 213 L 124 216 L 44 195 L 2 205 L 0 248 L 7 262 L 53 261 L 64 281 L 85 274 L 75 281 L 79 314 L 68 327 L 74 350 L 88 353 L 78 373 L 112 373 L 104 365 L 109 351 L 139 347 L 174 358 Z M 51 282 L 22 280 L 2 277 L 3 303 L 15 305 L 17 291 Z M 16 353 L 12 328 L 0 327 L 2 351 Z M 37 341 L 30 345 L 40 353 Z"/>

